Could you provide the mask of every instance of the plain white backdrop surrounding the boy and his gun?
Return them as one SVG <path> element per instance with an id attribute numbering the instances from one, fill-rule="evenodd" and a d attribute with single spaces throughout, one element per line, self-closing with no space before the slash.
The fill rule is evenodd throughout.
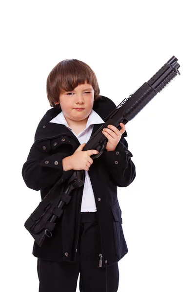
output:
<path id="1" fill-rule="evenodd" d="M 34 240 L 23 224 L 40 194 L 27 188 L 21 169 L 51 108 L 49 72 L 61 60 L 81 60 L 96 73 L 100 94 L 118 105 L 175 55 L 181 75 L 126 125 L 137 177 L 118 188 L 129 249 L 118 263 L 118 292 L 195 292 L 192 2 L 1 4 L 1 291 L 39 289 Z"/>

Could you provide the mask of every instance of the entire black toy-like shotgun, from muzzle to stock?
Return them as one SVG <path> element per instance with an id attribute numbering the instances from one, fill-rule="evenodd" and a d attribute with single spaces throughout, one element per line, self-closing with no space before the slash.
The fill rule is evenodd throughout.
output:
<path id="1" fill-rule="evenodd" d="M 126 125 L 137 113 L 142 110 L 149 101 L 160 92 L 176 75 L 179 64 L 173 56 L 148 82 L 145 82 L 137 91 L 125 98 L 115 110 L 113 110 L 104 120 L 105 123 L 96 131 L 84 146 L 83 151 L 96 149 L 97 155 L 91 155 L 92 159 L 98 158 L 106 145 L 107 138 L 102 134 L 102 129 L 108 125 L 113 125 L 120 129 L 120 123 Z M 74 188 L 82 186 L 84 183 L 83 170 L 75 171 L 72 177 L 64 186 L 62 194 L 58 198 L 53 198 L 48 193 L 39 203 L 39 206 L 26 220 L 24 226 L 34 237 L 39 246 L 42 245 L 44 238 L 51 237 L 52 231 L 56 226 L 55 220 L 62 214 L 63 207 L 71 200 L 70 193 Z"/>

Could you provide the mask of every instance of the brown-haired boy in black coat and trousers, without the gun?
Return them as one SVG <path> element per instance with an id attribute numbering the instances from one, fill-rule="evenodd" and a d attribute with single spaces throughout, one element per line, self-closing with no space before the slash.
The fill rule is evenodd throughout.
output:
<path id="1" fill-rule="evenodd" d="M 34 243 L 39 292 L 75 292 L 79 273 L 81 292 L 117 292 L 117 262 L 128 252 L 117 186 L 136 177 L 125 125 L 102 131 L 108 142 L 98 159 L 90 157 L 97 150 L 82 151 L 116 105 L 99 95 L 95 73 L 77 59 L 63 60 L 49 73 L 47 97 L 53 108 L 39 122 L 24 182 L 43 199 L 49 191 L 58 196 L 75 170 L 85 171 L 84 185 L 72 191 L 52 237 L 41 247 Z"/>

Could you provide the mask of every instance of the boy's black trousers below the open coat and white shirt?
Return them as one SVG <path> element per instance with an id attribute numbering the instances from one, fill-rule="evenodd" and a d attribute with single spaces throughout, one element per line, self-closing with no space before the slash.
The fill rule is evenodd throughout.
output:
<path id="1" fill-rule="evenodd" d="M 97 212 L 82 212 L 76 262 L 38 258 L 39 292 L 117 292 L 118 263 L 99 267 L 100 236 Z"/>

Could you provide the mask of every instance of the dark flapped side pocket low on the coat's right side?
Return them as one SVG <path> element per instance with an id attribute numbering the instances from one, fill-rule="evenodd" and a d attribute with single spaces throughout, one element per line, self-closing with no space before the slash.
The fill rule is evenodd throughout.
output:
<path id="1" fill-rule="evenodd" d="M 115 250 L 118 259 L 122 258 L 127 252 L 127 244 L 124 238 L 123 230 L 122 230 L 122 218 L 121 218 L 121 209 L 118 201 L 111 206 L 112 214 L 113 214 L 113 233 L 114 233 L 114 243 Z"/>

